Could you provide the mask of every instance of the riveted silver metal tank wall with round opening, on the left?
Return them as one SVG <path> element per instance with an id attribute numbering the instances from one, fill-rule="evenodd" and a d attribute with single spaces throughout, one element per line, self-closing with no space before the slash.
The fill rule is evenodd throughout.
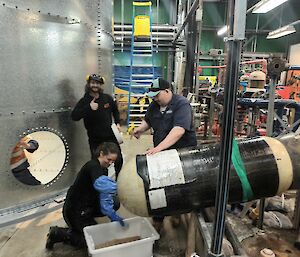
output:
<path id="1" fill-rule="evenodd" d="M 70 113 L 87 74 L 105 76 L 105 91 L 112 92 L 112 17 L 111 1 L 1 1 L 0 214 L 63 192 L 90 158 L 83 122 L 72 121 Z M 16 143 L 37 131 L 49 131 L 60 142 L 42 141 L 47 149 L 36 160 L 45 163 L 39 172 L 54 175 L 31 186 L 14 177 L 10 158 Z M 58 165 L 56 143 L 64 146 Z"/>

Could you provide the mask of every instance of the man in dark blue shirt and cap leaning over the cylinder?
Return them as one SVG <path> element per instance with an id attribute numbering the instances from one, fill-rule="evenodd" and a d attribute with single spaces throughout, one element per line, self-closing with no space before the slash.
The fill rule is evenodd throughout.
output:
<path id="1" fill-rule="evenodd" d="M 153 129 L 154 148 L 146 153 L 197 145 L 188 100 L 173 94 L 170 83 L 162 78 L 153 81 L 148 96 L 154 101 L 149 105 L 142 124 L 132 133 L 139 138 L 146 130 Z"/>

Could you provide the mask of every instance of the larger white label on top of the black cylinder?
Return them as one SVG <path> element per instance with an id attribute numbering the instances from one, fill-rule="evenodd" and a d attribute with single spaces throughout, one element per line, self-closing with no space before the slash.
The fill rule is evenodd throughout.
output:
<path id="1" fill-rule="evenodd" d="M 150 189 L 185 183 L 181 161 L 175 149 L 147 155 L 147 165 Z"/>

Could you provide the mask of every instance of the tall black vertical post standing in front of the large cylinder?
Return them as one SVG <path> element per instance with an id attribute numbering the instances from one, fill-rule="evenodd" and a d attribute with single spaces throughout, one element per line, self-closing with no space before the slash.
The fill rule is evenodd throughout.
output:
<path id="1" fill-rule="evenodd" d="M 233 17 L 234 0 L 229 2 L 229 17 Z M 233 20 L 229 23 L 229 35 L 233 34 Z M 225 230 L 225 212 L 228 200 L 229 172 L 231 165 L 231 149 L 233 140 L 233 129 L 236 108 L 236 94 L 238 85 L 238 74 L 241 54 L 241 41 L 230 39 L 228 44 L 228 60 L 226 69 L 226 80 L 224 88 L 224 110 L 222 119 L 222 135 L 220 148 L 220 166 L 218 176 L 218 186 L 216 193 L 216 215 L 214 221 L 213 240 L 209 256 L 220 256 L 222 252 L 222 242 Z"/>

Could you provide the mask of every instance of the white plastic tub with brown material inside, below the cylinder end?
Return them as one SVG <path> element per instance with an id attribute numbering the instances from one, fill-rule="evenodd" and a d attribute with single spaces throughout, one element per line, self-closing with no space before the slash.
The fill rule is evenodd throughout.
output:
<path id="1" fill-rule="evenodd" d="M 146 218 L 134 217 L 124 220 L 128 225 L 123 228 L 119 222 L 111 222 L 88 226 L 83 229 L 89 254 L 93 257 L 151 257 L 153 243 L 159 239 L 159 234 Z M 114 239 L 132 236 L 140 240 L 95 249 L 98 244 Z"/>

